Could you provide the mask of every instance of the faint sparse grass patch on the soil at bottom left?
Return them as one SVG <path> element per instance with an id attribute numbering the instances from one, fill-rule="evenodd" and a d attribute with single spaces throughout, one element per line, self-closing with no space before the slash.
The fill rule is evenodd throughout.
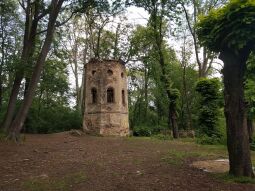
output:
<path id="1" fill-rule="evenodd" d="M 71 186 L 86 181 L 83 172 L 72 173 L 62 178 L 32 178 L 25 181 L 22 187 L 27 191 L 69 191 Z"/>

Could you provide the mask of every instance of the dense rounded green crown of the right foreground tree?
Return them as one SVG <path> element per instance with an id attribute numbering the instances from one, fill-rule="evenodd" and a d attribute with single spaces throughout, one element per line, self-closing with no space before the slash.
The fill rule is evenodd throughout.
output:
<path id="1" fill-rule="evenodd" d="M 237 51 L 254 46 L 254 31 L 254 0 L 230 0 L 224 7 L 201 16 L 197 24 L 200 43 L 215 52 L 224 48 Z"/>

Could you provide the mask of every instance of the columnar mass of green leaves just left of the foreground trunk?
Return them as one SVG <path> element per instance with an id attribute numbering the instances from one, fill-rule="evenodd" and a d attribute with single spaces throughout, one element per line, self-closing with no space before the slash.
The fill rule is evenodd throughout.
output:
<path id="1" fill-rule="evenodd" d="M 198 134 L 210 138 L 220 137 L 219 124 L 219 80 L 200 79 L 196 91 L 201 95 L 199 100 Z M 206 142 L 207 138 L 205 140 Z M 210 140 L 208 142 L 211 142 Z"/>

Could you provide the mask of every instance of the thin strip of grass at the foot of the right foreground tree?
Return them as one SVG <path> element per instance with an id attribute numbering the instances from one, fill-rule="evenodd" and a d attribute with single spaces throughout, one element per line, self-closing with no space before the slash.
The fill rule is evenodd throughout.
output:
<path id="1" fill-rule="evenodd" d="M 220 181 L 224 181 L 228 183 L 255 184 L 254 178 L 249 178 L 244 176 L 235 177 L 233 175 L 229 175 L 228 173 L 213 174 L 213 176 Z"/>

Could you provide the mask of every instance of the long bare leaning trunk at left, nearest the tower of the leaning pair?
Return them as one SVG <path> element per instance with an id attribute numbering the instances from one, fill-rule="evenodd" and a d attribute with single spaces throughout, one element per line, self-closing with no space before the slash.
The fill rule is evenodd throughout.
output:
<path id="1" fill-rule="evenodd" d="M 50 45 L 53 39 L 56 19 L 61 9 L 61 6 L 63 4 L 63 1 L 64 0 L 59 0 L 59 1 L 52 0 L 51 2 L 51 11 L 49 16 L 49 23 L 47 26 L 46 38 L 45 38 L 42 50 L 37 59 L 37 62 L 36 62 L 36 65 L 29 83 L 26 97 L 23 101 L 23 104 L 21 105 L 21 108 L 18 111 L 17 116 L 15 117 L 14 121 L 11 124 L 10 131 L 9 131 L 9 137 L 11 139 L 18 140 L 19 133 L 23 127 L 23 124 L 28 114 L 28 110 L 32 104 L 33 95 L 34 95 L 37 83 L 40 80 L 40 75 L 43 69 L 43 65 L 45 63 L 46 56 L 50 49 Z"/>

